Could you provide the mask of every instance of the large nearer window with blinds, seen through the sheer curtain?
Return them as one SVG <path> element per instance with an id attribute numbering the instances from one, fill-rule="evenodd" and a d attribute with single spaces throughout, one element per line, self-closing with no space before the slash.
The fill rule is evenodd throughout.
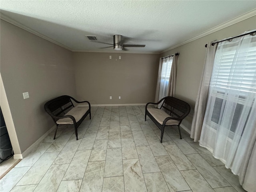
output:
<path id="1" fill-rule="evenodd" d="M 243 132 L 256 99 L 256 38 L 247 39 L 246 46 L 240 41 L 218 46 L 208 92 L 206 124 L 224 127 L 230 138 L 237 129 Z"/>

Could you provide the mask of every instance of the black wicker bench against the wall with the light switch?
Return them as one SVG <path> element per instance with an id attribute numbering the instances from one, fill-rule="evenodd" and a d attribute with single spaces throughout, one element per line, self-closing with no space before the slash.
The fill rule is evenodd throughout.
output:
<path id="1" fill-rule="evenodd" d="M 71 99 L 76 103 L 88 103 L 87 106 L 74 106 Z M 74 124 L 76 140 L 78 140 L 77 128 L 82 123 L 84 118 L 90 114 L 91 119 L 91 105 L 88 101 L 77 101 L 74 98 L 63 95 L 54 98 L 44 105 L 46 112 L 52 117 L 56 124 L 54 139 L 56 137 L 57 129 L 60 124 Z"/>

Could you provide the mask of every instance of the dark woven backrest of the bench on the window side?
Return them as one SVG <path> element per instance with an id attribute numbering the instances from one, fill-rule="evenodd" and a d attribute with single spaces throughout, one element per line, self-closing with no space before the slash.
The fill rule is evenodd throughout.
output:
<path id="1" fill-rule="evenodd" d="M 174 118 L 185 118 L 190 112 L 188 103 L 170 96 L 164 98 L 161 109 Z"/>

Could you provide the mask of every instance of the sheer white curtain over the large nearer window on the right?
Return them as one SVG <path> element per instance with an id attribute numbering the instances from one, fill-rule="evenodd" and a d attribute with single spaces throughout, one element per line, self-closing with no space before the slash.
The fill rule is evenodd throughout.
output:
<path id="1" fill-rule="evenodd" d="M 256 35 L 218 44 L 200 146 L 244 181 L 256 129 Z M 255 157 L 255 156 L 254 156 Z M 254 162 L 255 168 L 255 160 Z M 253 179 L 253 178 L 250 178 Z M 255 177 L 254 177 L 255 180 Z M 251 183 L 255 186 L 255 181 Z M 256 186 L 255 186 L 256 188 Z"/>

